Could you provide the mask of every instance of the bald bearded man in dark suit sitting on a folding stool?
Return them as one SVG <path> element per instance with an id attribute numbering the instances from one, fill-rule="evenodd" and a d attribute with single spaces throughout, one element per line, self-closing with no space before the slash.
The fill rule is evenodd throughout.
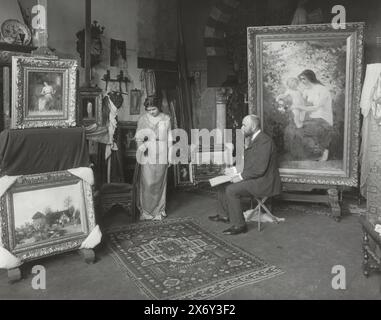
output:
<path id="1" fill-rule="evenodd" d="M 224 234 L 235 235 L 247 232 L 241 207 L 241 197 L 271 197 L 280 194 L 281 182 L 272 139 L 260 130 L 260 119 L 248 115 L 242 121 L 242 131 L 249 140 L 244 153 L 243 171 L 227 168 L 225 174 L 231 182 L 219 191 L 219 214 L 209 217 L 213 221 L 231 222 L 232 227 Z"/>

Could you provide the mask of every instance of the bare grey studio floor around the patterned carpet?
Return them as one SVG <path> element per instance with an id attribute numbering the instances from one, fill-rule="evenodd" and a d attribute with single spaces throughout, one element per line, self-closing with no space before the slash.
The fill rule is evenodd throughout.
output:
<path id="1" fill-rule="evenodd" d="M 324 205 L 277 203 L 273 213 L 285 218 L 279 224 L 256 223 L 249 232 L 225 236 L 226 224 L 208 220 L 216 214 L 216 199 L 210 195 L 176 192 L 169 196 L 168 219 L 193 217 L 210 232 L 280 267 L 284 273 L 274 278 L 236 288 L 218 299 L 381 299 L 381 275 L 362 274 L 362 232 L 359 213 L 347 210 L 351 198 L 344 198 L 340 222 L 327 216 Z M 124 214 L 108 217 L 109 226 L 126 224 Z M 24 279 L 9 283 L 0 271 L 0 299 L 147 299 L 135 283 L 114 262 L 107 247 L 96 249 L 95 264 L 86 264 L 77 252 L 49 257 L 26 265 Z M 46 268 L 46 289 L 32 288 L 35 264 Z M 334 266 L 345 268 L 346 289 L 332 288 Z"/>

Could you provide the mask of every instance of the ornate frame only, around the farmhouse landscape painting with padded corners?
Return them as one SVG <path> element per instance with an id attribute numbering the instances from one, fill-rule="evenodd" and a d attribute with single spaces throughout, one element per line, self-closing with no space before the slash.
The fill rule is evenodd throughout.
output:
<path id="1" fill-rule="evenodd" d="M 53 240 L 40 241 L 16 248 L 15 212 L 12 196 L 17 191 L 33 191 L 54 188 L 80 182 L 85 213 L 81 215 L 82 232 L 61 236 Z M 33 199 L 31 199 L 33 201 Z M 68 171 L 57 171 L 19 177 L 0 198 L 0 240 L 4 248 L 23 261 L 34 260 L 79 248 L 81 243 L 95 227 L 95 213 L 91 185 Z"/>

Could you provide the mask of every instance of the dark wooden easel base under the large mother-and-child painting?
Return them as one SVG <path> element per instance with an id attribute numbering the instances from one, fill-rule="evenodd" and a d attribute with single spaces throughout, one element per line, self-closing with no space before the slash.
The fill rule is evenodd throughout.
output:
<path id="1" fill-rule="evenodd" d="M 314 190 L 326 190 L 325 194 L 312 194 Z M 340 195 L 340 199 L 339 199 Z M 310 203 L 324 203 L 331 208 L 331 217 L 335 221 L 341 219 L 342 189 L 338 186 L 309 185 L 309 184 L 283 184 L 283 192 L 279 197 L 285 201 L 300 201 Z"/>

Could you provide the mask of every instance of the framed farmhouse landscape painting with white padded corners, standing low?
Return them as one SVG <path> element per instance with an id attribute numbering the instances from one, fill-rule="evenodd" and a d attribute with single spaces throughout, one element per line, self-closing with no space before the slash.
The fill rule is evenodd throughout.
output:
<path id="1" fill-rule="evenodd" d="M 0 209 L 1 243 L 23 261 L 77 249 L 95 227 L 91 185 L 68 171 L 19 177 Z"/>

